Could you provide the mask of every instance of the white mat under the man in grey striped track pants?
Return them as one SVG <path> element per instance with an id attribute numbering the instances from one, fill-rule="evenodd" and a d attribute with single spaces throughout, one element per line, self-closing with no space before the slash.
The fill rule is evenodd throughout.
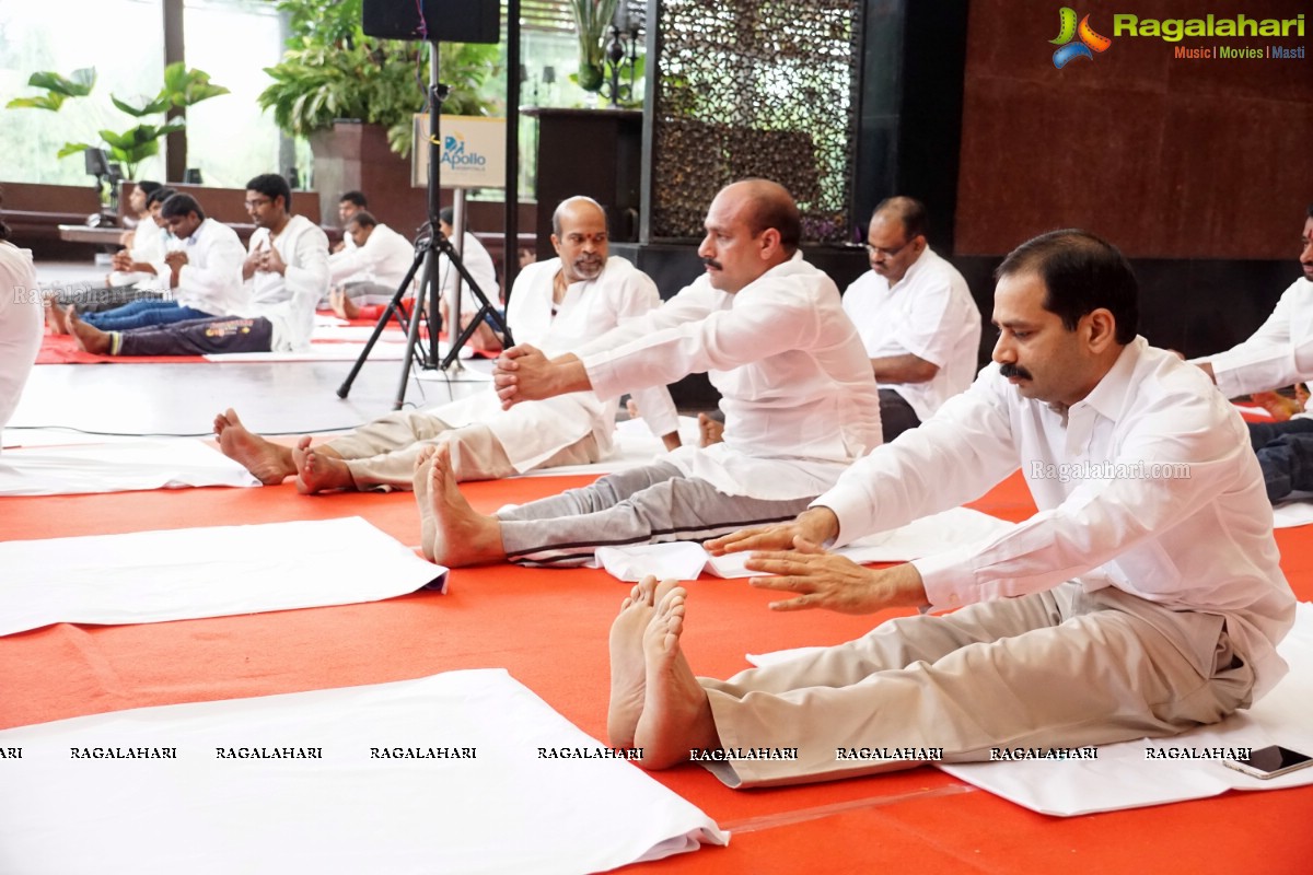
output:
<path id="1" fill-rule="evenodd" d="M 857 564 L 873 561 L 911 561 L 935 552 L 955 550 L 987 538 L 995 538 L 1012 527 L 979 510 L 953 508 L 924 517 L 902 529 L 860 538 L 835 552 Z M 763 572 L 743 567 L 750 552 L 712 556 L 701 544 L 680 540 L 664 544 L 634 544 L 629 547 L 599 547 L 595 563 L 613 577 L 625 581 L 642 580 L 645 575 L 660 579 L 696 580 L 706 572 L 716 577 L 755 577 Z"/>

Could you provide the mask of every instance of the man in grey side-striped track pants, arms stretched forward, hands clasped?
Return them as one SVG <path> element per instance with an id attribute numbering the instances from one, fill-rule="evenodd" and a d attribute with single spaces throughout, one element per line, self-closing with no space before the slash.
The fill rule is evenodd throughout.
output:
<path id="1" fill-rule="evenodd" d="M 440 450 L 425 519 L 435 561 L 579 564 L 601 544 L 701 540 L 750 519 L 790 518 L 880 443 L 871 363 L 834 281 L 798 252 L 789 193 L 765 180 L 735 182 L 712 201 L 705 224 L 705 273 L 659 310 L 551 359 L 516 346 L 494 379 L 513 405 L 705 371 L 721 392 L 725 441 L 494 517 L 465 502 Z"/>

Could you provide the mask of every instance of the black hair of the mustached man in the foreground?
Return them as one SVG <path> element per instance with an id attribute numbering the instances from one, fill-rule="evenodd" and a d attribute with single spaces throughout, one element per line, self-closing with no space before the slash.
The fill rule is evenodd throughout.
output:
<path id="1" fill-rule="evenodd" d="M 1075 331 L 1081 317 L 1104 308 L 1116 324 L 1123 346 L 1140 328 L 1140 283 L 1121 252 L 1088 231 L 1049 231 L 1012 249 L 994 279 L 1033 273 L 1044 281 L 1044 308 Z"/>

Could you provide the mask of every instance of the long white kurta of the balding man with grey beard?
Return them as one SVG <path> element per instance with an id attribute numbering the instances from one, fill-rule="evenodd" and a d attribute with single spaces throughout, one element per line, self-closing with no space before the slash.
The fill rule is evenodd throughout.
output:
<path id="1" fill-rule="evenodd" d="M 538 261 L 520 272 L 507 307 L 507 321 L 517 344 L 532 344 L 549 357 L 570 352 L 580 344 L 643 316 L 660 304 L 656 286 L 620 256 L 607 261 L 601 275 L 566 289 L 555 316 L 551 315 L 551 286 L 561 260 Z M 525 472 L 590 432 L 597 449 L 612 451 L 620 391 L 571 392 L 542 401 L 502 409 L 496 392 L 487 391 L 429 411 L 452 426 L 482 422 L 506 450 L 519 472 Z M 634 401 L 653 434 L 679 429 L 675 403 L 666 384 L 634 392 Z"/>

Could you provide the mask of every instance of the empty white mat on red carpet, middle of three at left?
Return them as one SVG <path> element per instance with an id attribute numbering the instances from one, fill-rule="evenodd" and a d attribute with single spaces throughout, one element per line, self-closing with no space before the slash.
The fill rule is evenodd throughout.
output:
<path id="1" fill-rule="evenodd" d="M 0 635 L 372 602 L 446 569 L 360 517 L 0 543 Z M 3 871 L 3 867 L 0 867 Z"/>

